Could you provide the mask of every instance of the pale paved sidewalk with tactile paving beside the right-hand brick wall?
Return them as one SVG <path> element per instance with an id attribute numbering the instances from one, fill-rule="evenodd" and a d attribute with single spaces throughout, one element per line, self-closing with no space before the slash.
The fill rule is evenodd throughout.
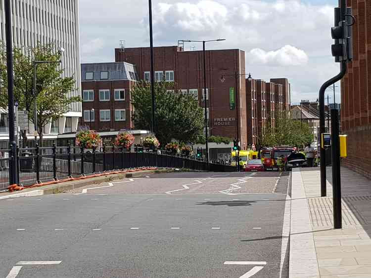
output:
<path id="1" fill-rule="evenodd" d="M 290 278 L 371 278 L 371 180 L 341 168 L 343 229 L 333 229 L 332 173 L 321 198 L 320 169 L 292 171 Z"/>

